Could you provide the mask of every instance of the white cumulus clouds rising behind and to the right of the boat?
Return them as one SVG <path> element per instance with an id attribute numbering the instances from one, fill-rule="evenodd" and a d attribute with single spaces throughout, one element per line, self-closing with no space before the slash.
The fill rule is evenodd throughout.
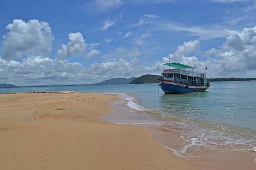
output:
<path id="1" fill-rule="evenodd" d="M 227 31 L 226 42 L 218 49 L 205 52 L 206 61 L 188 55 L 199 50 L 199 41 L 184 42 L 170 55 L 173 61 L 204 69 L 208 77 L 248 77 L 256 70 L 256 27 L 245 28 L 242 32 Z M 167 58 L 164 58 L 165 60 Z M 255 75 L 253 76 L 255 77 Z"/>

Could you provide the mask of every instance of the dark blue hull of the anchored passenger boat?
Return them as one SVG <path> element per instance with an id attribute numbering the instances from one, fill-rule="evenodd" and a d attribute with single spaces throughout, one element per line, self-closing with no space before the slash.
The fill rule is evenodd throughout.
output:
<path id="1" fill-rule="evenodd" d="M 172 85 L 172 84 L 166 84 L 161 83 L 159 85 L 161 89 L 166 93 L 187 93 L 187 92 L 198 92 L 198 91 L 205 91 L 207 88 L 186 88 L 179 85 Z"/>

